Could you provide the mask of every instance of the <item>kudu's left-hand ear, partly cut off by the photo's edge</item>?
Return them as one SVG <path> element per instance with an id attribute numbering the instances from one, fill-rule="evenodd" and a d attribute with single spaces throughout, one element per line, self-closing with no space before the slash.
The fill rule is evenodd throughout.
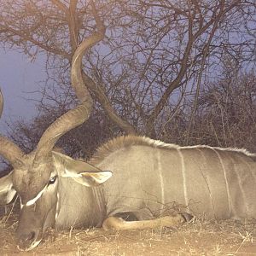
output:
<path id="1" fill-rule="evenodd" d="M 8 205 L 15 197 L 16 190 L 12 181 L 13 172 L 0 178 L 0 205 Z"/>

